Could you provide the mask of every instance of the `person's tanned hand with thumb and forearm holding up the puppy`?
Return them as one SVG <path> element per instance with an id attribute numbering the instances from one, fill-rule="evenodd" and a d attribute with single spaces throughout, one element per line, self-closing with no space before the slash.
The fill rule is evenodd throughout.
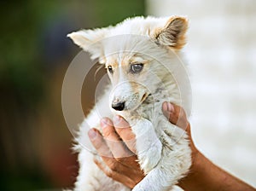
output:
<path id="1" fill-rule="evenodd" d="M 187 177 L 178 182 L 184 190 L 227 190 L 239 191 L 256 189 L 233 177 L 217 165 L 207 159 L 195 148 L 191 137 L 190 124 L 182 107 L 165 102 L 162 106 L 164 115 L 172 124 L 187 131 L 189 144 L 192 151 L 192 165 Z M 123 183 L 128 188 L 134 188 L 143 177 L 143 171 L 137 163 L 135 135 L 130 125 L 121 117 L 115 117 L 113 122 L 110 119 L 102 119 L 102 134 L 99 130 L 89 131 L 90 141 L 102 156 L 104 163 L 98 161 L 96 165 L 113 180 Z"/>

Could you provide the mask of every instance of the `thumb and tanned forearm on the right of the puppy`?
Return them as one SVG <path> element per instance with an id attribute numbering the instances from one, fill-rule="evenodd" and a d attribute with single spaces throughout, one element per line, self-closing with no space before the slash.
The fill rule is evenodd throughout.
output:
<path id="1" fill-rule="evenodd" d="M 242 182 L 237 177 L 233 177 L 228 172 L 222 170 L 207 159 L 196 147 L 192 140 L 190 124 L 182 107 L 165 102 L 163 113 L 172 124 L 187 131 L 189 136 L 189 146 L 191 148 L 192 165 L 187 177 L 179 180 L 178 186 L 184 190 L 226 190 L 226 191 L 256 191 L 255 188 Z"/>

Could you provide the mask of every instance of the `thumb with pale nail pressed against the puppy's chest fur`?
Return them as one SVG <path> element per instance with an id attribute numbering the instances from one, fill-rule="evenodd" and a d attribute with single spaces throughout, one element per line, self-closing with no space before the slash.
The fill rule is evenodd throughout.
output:
<path id="1" fill-rule="evenodd" d="M 182 107 L 179 107 L 170 102 L 164 102 L 162 110 L 166 118 L 168 118 L 172 124 L 176 124 L 183 130 L 188 131 L 189 122 Z"/>

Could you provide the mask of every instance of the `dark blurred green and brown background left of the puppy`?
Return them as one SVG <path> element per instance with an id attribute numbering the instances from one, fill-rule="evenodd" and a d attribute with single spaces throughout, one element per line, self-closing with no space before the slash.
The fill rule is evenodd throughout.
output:
<path id="1" fill-rule="evenodd" d="M 61 85 L 80 49 L 67 33 L 143 15 L 145 3 L 25 0 L 1 1 L 0 9 L 0 190 L 72 187 L 78 165 Z M 85 111 L 93 101 L 84 95 Z"/>

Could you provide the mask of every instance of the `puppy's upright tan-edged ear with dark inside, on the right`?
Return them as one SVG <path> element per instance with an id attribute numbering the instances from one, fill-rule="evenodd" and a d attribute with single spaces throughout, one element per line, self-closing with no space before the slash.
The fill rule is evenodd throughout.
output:
<path id="1" fill-rule="evenodd" d="M 182 49 L 186 43 L 185 33 L 188 29 L 188 20 L 181 16 L 172 16 L 167 20 L 164 28 L 156 32 L 157 43 L 173 49 Z"/>

